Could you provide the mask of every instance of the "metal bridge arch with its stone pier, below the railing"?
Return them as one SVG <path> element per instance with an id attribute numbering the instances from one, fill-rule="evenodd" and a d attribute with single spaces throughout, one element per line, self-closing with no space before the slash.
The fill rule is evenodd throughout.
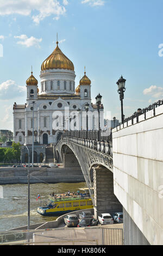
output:
<path id="1" fill-rule="evenodd" d="M 68 138 L 62 138 L 55 150 L 58 151 L 66 166 L 70 166 L 73 163 L 82 169 L 93 205 L 95 206 L 95 217 L 102 212 L 114 214 L 115 211 L 122 211 L 122 205 L 114 194 L 112 168 L 110 167 L 109 160 L 102 152 L 99 154 L 96 150 L 74 143 Z M 94 195 L 92 187 L 94 187 Z"/>

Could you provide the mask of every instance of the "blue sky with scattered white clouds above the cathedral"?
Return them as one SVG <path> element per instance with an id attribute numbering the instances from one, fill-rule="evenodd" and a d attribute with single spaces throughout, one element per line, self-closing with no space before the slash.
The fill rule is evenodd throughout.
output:
<path id="1" fill-rule="evenodd" d="M 13 131 L 14 102 L 26 103 L 26 80 L 59 47 L 80 77 L 92 81 L 105 113 L 121 121 L 116 82 L 126 79 L 124 115 L 163 98 L 162 0 L 1 0 L 0 130 Z"/>

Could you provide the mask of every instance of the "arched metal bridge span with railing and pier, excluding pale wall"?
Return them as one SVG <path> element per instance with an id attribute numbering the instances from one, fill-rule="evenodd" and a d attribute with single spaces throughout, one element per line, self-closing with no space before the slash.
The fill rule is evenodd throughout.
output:
<path id="1" fill-rule="evenodd" d="M 65 167 L 82 169 L 96 217 L 104 212 L 122 211 L 114 194 L 111 131 L 65 131 L 55 151 Z"/>

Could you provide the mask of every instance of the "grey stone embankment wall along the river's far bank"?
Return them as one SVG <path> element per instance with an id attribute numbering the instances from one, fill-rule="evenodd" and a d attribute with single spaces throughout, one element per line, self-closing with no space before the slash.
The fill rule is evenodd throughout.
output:
<path id="1" fill-rule="evenodd" d="M 27 168 L 0 168 L 0 185 L 27 184 Z M 82 170 L 79 168 L 30 168 L 30 184 L 58 183 L 58 182 L 85 182 Z"/>

